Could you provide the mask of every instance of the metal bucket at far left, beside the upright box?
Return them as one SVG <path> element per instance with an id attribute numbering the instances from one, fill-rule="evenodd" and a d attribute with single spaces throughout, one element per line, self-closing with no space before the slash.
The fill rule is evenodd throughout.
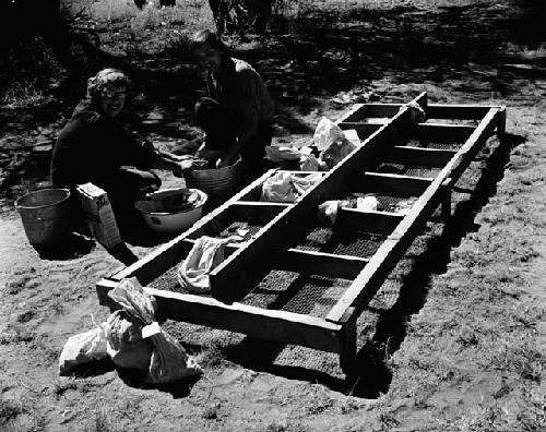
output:
<path id="1" fill-rule="evenodd" d="M 28 242 L 36 248 L 60 244 L 72 231 L 72 203 L 68 189 L 43 189 L 15 201 Z"/>

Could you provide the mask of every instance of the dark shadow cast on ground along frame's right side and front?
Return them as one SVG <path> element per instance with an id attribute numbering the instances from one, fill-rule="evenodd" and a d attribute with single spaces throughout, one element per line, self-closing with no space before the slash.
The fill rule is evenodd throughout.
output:
<path id="1" fill-rule="evenodd" d="M 322 371 L 297 365 L 274 364 L 275 358 L 286 347 L 284 344 L 246 337 L 241 343 L 223 349 L 225 357 L 235 363 L 257 371 L 273 373 L 294 380 L 323 384 L 334 391 L 364 398 L 377 398 L 388 392 L 392 372 L 390 357 L 400 348 L 412 315 L 426 302 L 434 275 L 444 273 L 450 262 L 450 251 L 468 233 L 476 231 L 475 216 L 497 191 L 510 152 L 525 140 L 506 134 L 485 160 L 479 180 L 467 192 L 467 199 L 458 203 L 441 233 L 427 239 L 425 251 L 411 257 L 410 269 L 402 276 L 396 302 L 379 313 L 373 337 L 360 348 L 354 361 L 354 374 L 340 379 Z M 372 309 L 368 307 L 368 309 Z"/>

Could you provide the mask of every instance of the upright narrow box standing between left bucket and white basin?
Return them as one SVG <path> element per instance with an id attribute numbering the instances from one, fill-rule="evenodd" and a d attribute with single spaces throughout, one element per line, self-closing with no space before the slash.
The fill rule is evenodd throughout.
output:
<path id="1" fill-rule="evenodd" d="M 93 237 L 107 249 L 122 243 L 106 191 L 93 183 L 79 184 L 76 190 Z"/>

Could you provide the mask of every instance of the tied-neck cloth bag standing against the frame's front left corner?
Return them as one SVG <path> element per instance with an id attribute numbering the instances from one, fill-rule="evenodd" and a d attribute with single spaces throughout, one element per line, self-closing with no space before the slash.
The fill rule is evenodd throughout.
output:
<path id="1" fill-rule="evenodd" d="M 155 299 L 144 292 L 135 278 L 121 280 L 108 296 L 121 307 L 121 311 L 110 315 L 106 326 L 114 363 L 146 370 L 144 382 L 150 384 L 165 384 L 201 373 L 183 347 L 159 327 L 155 321 Z"/>

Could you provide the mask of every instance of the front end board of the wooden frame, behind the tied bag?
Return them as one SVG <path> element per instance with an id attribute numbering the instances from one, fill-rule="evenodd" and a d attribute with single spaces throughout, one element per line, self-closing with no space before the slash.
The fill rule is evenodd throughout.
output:
<path id="1" fill-rule="evenodd" d="M 117 281 L 103 279 L 97 291 L 108 298 Z M 265 340 L 296 344 L 339 352 L 341 326 L 316 316 L 268 310 L 248 304 L 224 304 L 210 297 L 182 295 L 144 287 L 157 301 L 157 320 L 177 320 L 209 327 L 244 333 Z M 111 301 L 111 300 L 110 300 Z"/>

